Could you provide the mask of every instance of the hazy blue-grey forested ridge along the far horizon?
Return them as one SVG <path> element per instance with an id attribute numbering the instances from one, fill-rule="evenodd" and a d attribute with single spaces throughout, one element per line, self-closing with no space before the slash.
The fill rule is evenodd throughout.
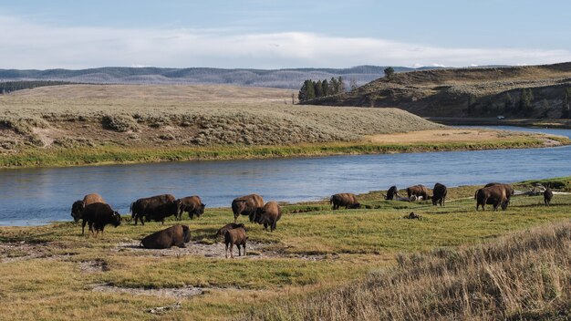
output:
<path id="1" fill-rule="evenodd" d="M 291 69 L 221 69 L 221 68 L 161 68 L 161 67 L 99 67 L 68 70 L 0 69 L 0 81 L 57 80 L 94 84 L 228 84 L 247 87 L 299 89 L 306 79 L 342 77 L 348 85 L 355 79 L 358 86 L 384 76 L 380 66 L 350 68 L 291 68 Z M 396 72 L 415 70 L 394 67 Z"/>

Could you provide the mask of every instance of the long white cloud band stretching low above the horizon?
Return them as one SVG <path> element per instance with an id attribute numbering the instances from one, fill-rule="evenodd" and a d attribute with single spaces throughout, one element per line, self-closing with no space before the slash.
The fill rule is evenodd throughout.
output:
<path id="1" fill-rule="evenodd" d="M 450 48 L 304 32 L 43 26 L 0 16 L 0 68 L 532 65 L 571 61 L 536 48 Z"/>

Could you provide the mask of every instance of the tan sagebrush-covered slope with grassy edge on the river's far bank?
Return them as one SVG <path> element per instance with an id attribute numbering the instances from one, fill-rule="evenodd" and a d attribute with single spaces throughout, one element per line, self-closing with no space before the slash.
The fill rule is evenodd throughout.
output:
<path id="1" fill-rule="evenodd" d="M 228 86 L 68 85 L 0 96 L 0 167 L 538 147 L 535 134 L 379 142 L 445 129 L 400 109 L 308 107 L 292 91 Z M 373 138 L 371 140 L 371 137 Z"/>

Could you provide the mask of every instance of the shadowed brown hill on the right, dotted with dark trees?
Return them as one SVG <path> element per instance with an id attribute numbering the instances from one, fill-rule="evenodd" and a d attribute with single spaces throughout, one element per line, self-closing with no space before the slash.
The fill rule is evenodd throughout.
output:
<path id="1" fill-rule="evenodd" d="M 378 78 L 311 105 L 398 107 L 424 117 L 561 118 L 571 96 L 571 62 L 526 67 L 414 70 Z M 522 108 L 522 93 L 531 106 Z M 509 96 L 508 96 L 509 95 Z M 511 101 L 510 99 L 511 98 Z M 567 98 L 567 102 L 571 97 Z"/>

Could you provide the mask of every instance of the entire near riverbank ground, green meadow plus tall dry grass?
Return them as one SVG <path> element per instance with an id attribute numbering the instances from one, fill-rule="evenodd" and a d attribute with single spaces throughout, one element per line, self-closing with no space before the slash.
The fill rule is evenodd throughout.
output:
<path id="1" fill-rule="evenodd" d="M 570 178 L 551 181 L 569 191 Z M 281 320 L 328 318 L 328 311 L 338 311 L 333 319 L 344 319 L 351 311 L 353 317 L 371 316 L 375 303 L 387 306 L 382 311 L 389 318 L 403 312 L 404 319 L 556 316 L 570 295 L 564 286 L 568 251 L 561 249 L 568 249 L 571 196 L 555 195 L 549 208 L 541 197 L 514 197 L 505 212 L 475 212 L 476 188 L 450 189 L 445 207 L 384 201 L 380 192 L 360 195 L 360 210 L 331 211 L 327 202 L 286 204 L 274 233 L 246 223 L 248 255 L 234 260 L 223 258 L 223 244 L 213 236 L 234 221 L 228 208 L 207 208 L 192 221 L 185 215 L 182 223 L 192 231 L 185 249 L 138 247 L 141 237 L 173 221 L 134 226 L 125 216 L 98 238 L 81 236 L 71 222 L 0 227 L 0 297 L 6 303 L 0 315 L 147 320 L 157 318 L 151 308 L 170 306 L 159 317 Z M 422 219 L 403 219 L 410 212 Z M 498 240 L 538 225 L 544 227 Z M 512 274 L 517 283 L 505 282 Z M 339 294 L 347 299 L 338 300 Z M 374 299 L 362 296 L 368 294 Z M 387 295 L 402 297 L 400 305 Z M 455 305 L 457 295 L 462 305 Z M 316 311 L 315 304 L 327 311 Z"/>

